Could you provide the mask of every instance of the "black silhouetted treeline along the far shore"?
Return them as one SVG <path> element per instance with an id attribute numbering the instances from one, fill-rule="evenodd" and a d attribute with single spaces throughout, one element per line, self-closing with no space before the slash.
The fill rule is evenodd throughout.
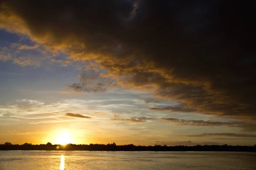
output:
<path id="1" fill-rule="evenodd" d="M 195 145 L 195 146 L 136 146 L 134 144 L 116 145 L 112 144 L 11 144 L 6 142 L 0 144 L 0 150 L 102 150 L 102 151 L 243 151 L 256 152 L 256 144 L 253 146 L 231 146 L 231 145 Z"/>

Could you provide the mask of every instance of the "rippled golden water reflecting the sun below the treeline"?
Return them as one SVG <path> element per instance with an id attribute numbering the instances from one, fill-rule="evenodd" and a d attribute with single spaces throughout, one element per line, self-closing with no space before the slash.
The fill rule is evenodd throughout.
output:
<path id="1" fill-rule="evenodd" d="M 256 170 L 256 153 L 0 150 L 0 170 Z"/>

